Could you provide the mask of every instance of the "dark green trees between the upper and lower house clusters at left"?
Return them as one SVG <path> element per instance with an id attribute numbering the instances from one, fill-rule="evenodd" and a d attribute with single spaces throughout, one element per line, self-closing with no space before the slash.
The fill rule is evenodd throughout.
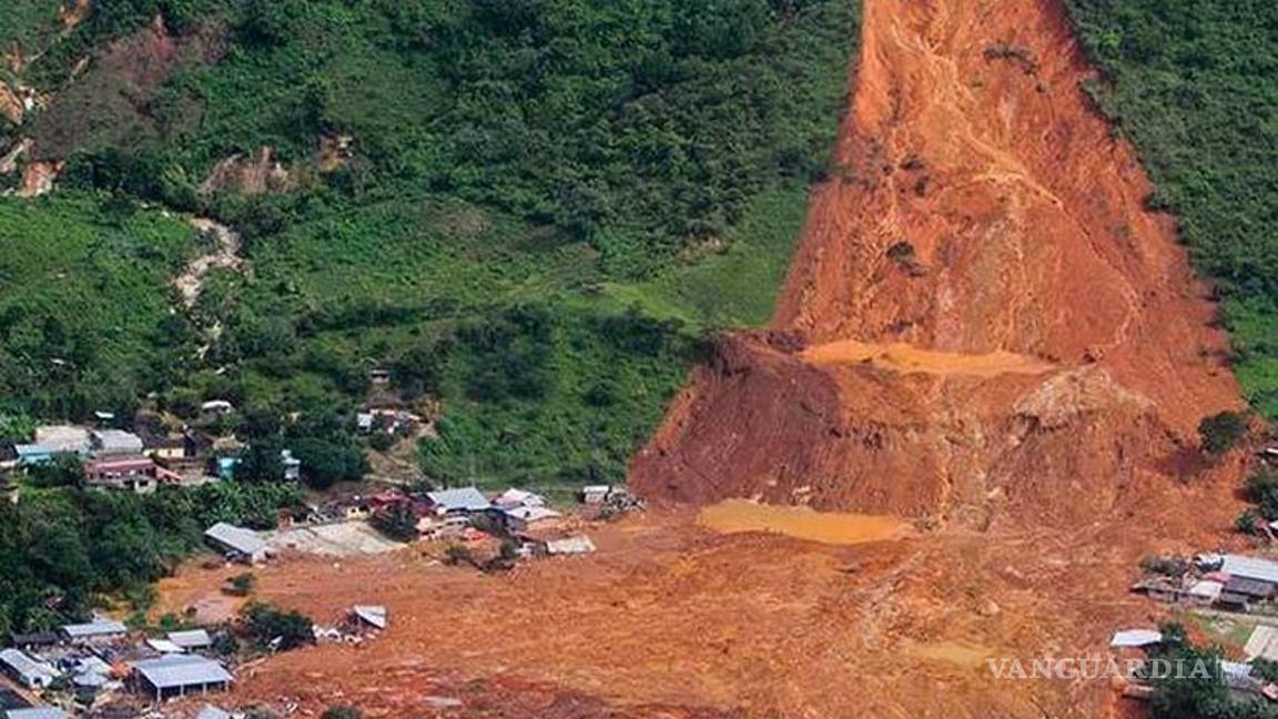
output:
<path id="1" fill-rule="evenodd" d="M 83 618 L 105 594 L 144 599 L 150 582 L 220 521 L 273 527 L 296 486 L 216 484 L 153 495 L 46 490 L 0 503 L 0 636 Z"/>

